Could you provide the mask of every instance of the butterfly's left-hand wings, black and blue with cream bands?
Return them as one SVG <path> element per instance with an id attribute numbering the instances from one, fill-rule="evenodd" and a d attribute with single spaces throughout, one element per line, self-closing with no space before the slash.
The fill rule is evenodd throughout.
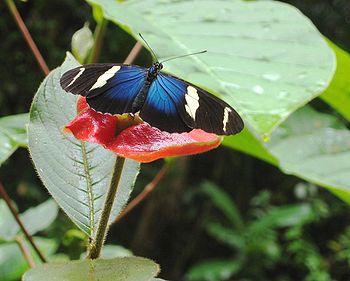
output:
<path id="1" fill-rule="evenodd" d="M 63 74 L 61 86 L 67 92 L 86 97 L 102 113 L 132 112 L 132 104 L 144 86 L 147 69 L 134 65 L 89 64 Z"/>

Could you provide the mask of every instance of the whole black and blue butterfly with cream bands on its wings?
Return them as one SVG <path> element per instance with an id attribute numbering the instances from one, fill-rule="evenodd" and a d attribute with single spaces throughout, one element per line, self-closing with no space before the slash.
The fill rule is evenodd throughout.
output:
<path id="1" fill-rule="evenodd" d="M 91 108 L 110 114 L 136 114 L 151 126 L 170 133 L 198 128 L 217 135 L 239 133 L 243 121 L 226 102 L 170 74 L 163 64 L 88 64 L 71 69 L 62 88 L 86 97 Z"/>

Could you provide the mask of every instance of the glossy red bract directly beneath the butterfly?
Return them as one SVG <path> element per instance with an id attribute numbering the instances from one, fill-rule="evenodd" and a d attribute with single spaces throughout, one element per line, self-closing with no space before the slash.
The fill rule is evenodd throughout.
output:
<path id="1" fill-rule="evenodd" d="M 143 163 L 205 152 L 222 141 L 222 137 L 199 129 L 168 133 L 127 114 L 102 114 L 91 109 L 85 98 L 79 98 L 77 110 L 78 116 L 66 125 L 66 131 L 79 140 L 101 144 L 120 156 Z"/>

